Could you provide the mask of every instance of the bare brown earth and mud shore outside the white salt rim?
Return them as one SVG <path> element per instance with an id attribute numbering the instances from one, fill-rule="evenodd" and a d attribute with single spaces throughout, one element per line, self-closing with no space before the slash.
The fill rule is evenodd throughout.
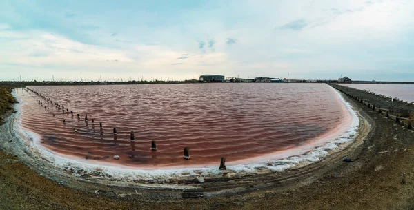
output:
<path id="1" fill-rule="evenodd" d="M 123 185 L 122 187 L 110 186 L 107 179 L 102 178 L 99 172 L 96 176 L 88 173 L 77 176 L 76 173 L 70 172 L 70 169 L 60 173 L 61 170 L 50 168 L 49 161 L 40 161 L 40 157 L 34 157 L 31 152 L 28 152 L 28 150 L 35 150 L 34 147 L 25 149 L 26 147 L 10 146 L 11 143 L 17 141 L 12 138 L 15 133 L 12 121 L 16 120 L 12 115 L 8 118 L 8 123 L 1 126 L 1 145 L 8 153 L 17 154 L 19 160 L 42 175 L 37 175 L 12 156 L 2 153 L 1 160 L 7 161 L 0 164 L 0 174 L 1 178 L 8 181 L 7 187 L 4 184 L 0 185 L 4 186 L 2 189 L 6 189 L 3 193 L 7 193 L 7 196 L 3 194 L 5 196 L 2 197 L 9 196 L 14 200 L 2 202 L 4 206 L 0 204 L 0 207 L 15 207 L 14 205 L 19 201 L 24 205 L 32 205 L 30 207 L 45 207 L 49 204 L 49 207 L 60 209 L 93 207 L 99 209 L 113 209 L 114 207 L 123 209 L 133 207 L 144 209 L 155 207 L 169 207 L 170 209 L 185 207 L 190 209 L 374 209 L 389 207 L 400 209 L 410 207 L 410 201 L 414 197 L 411 184 L 413 132 L 393 124 L 383 115 L 370 111 L 366 106 L 357 104 L 348 97 L 345 99 L 355 108 L 356 114 L 361 116 L 359 133 L 353 144 L 326 158 L 321 157 L 322 160 L 319 162 L 286 171 L 258 168 L 248 173 L 238 171 L 233 176 L 231 173 L 223 173 L 217 176 L 212 175 L 211 178 L 204 178 L 204 180 L 195 178 L 193 180 L 171 180 L 171 183 L 152 180 L 135 185 L 128 182 L 117 184 Z M 22 153 L 21 149 L 25 152 Z M 355 162 L 343 162 L 344 158 L 352 158 Z M 405 184 L 401 184 L 403 173 L 406 173 Z M 148 189 L 148 187 L 166 184 L 172 188 L 186 185 L 188 188 L 204 191 L 205 197 L 201 200 L 181 200 L 181 189 Z M 12 189 L 18 189 L 14 186 L 19 186 L 19 189 L 24 190 L 13 191 Z M 56 193 L 61 193 L 59 198 L 55 195 Z M 36 198 L 23 202 L 23 197 L 27 194 L 36 195 L 34 196 Z M 397 198 L 400 199 L 397 200 Z M 398 202 L 390 202 L 391 200 Z M 111 202 L 115 204 L 110 204 Z"/>

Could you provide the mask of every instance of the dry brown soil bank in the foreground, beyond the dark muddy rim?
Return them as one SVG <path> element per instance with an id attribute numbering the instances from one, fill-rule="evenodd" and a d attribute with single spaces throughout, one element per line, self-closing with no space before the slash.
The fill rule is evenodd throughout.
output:
<path id="1" fill-rule="evenodd" d="M 412 209 L 414 132 L 345 98 L 371 124 L 371 132 L 348 149 L 302 169 L 206 180 L 199 187 L 215 196 L 182 199 L 174 196 L 177 190 L 79 187 L 89 183 L 77 183 L 77 189 L 72 189 L 38 175 L 4 151 L 0 152 L 0 209 Z M 362 133 L 370 128 L 363 123 Z M 0 146 L 5 141 L 0 135 Z M 355 161 L 344 162 L 344 158 Z M 122 190 L 135 193 L 119 193 Z M 157 199 L 161 193 L 172 196 Z"/>

